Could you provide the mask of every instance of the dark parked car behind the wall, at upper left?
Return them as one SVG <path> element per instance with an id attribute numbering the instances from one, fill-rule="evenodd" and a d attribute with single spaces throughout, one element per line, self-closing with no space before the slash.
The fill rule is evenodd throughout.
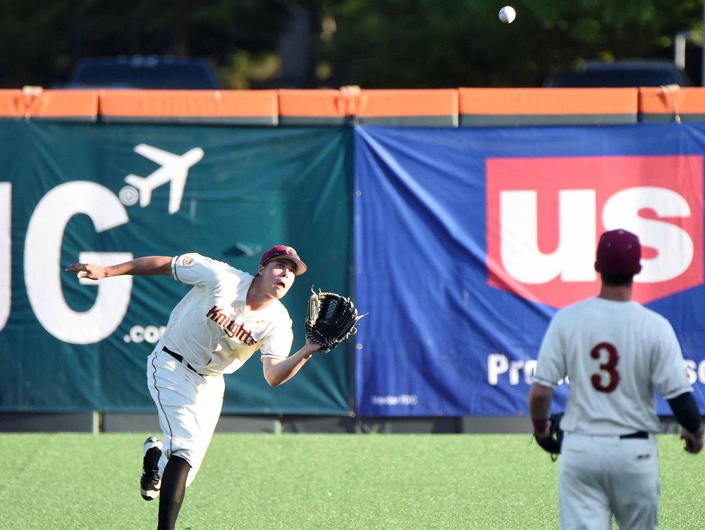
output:
<path id="1" fill-rule="evenodd" d="M 221 90 L 222 85 L 205 59 L 135 55 L 82 59 L 71 80 L 54 88 Z"/>

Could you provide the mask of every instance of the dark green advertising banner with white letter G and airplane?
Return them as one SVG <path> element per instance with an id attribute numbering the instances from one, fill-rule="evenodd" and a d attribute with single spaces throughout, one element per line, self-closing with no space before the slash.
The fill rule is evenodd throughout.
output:
<path id="1" fill-rule="evenodd" d="M 0 142 L 1 411 L 154 411 L 147 356 L 190 287 L 70 264 L 198 252 L 254 274 L 290 245 L 309 266 L 283 300 L 293 351 L 312 285 L 350 292 L 350 128 L 4 121 Z M 348 414 L 352 347 L 276 388 L 255 354 L 223 412 Z"/>

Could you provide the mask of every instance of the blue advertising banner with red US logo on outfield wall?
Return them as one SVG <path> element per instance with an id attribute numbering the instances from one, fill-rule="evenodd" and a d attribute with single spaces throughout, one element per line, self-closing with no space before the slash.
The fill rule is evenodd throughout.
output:
<path id="1" fill-rule="evenodd" d="M 548 321 L 599 292 L 597 238 L 618 227 L 705 411 L 704 152 L 702 124 L 356 128 L 357 414 L 526 415 Z"/>

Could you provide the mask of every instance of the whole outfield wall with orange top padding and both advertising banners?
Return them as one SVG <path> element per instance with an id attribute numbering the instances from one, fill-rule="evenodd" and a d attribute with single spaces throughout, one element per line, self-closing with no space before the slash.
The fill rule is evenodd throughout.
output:
<path id="1" fill-rule="evenodd" d="M 200 252 L 254 271 L 286 242 L 309 264 L 286 299 L 295 349 L 311 284 L 369 315 L 285 386 L 257 362 L 228 376 L 226 418 L 511 424 L 548 319 L 596 292 L 615 226 L 649 247 L 635 296 L 673 322 L 705 411 L 704 109 L 691 88 L 0 90 L 3 422 L 110 431 L 152 412 L 145 360 L 184 286 L 85 285 L 68 264 Z M 157 174 L 155 147 L 198 158 L 183 194 L 125 182 Z"/>

